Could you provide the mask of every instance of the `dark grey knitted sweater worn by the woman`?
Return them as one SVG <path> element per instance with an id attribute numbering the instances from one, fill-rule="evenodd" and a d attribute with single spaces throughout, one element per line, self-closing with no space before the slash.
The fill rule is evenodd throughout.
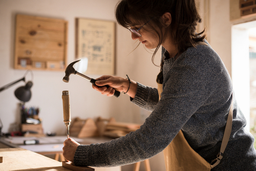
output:
<path id="1" fill-rule="evenodd" d="M 163 57 L 165 50 L 163 49 Z M 79 145 L 74 163 L 110 167 L 151 158 L 182 130 L 189 145 L 206 161 L 220 151 L 231 105 L 230 76 L 210 46 L 188 48 L 176 60 L 164 60 L 163 92 L 138 83 L 133 103 L 152 111 L 139 130 L 110 142 Z M 256 170 L 254 138 L 233 98 L 232 132 L 220 164 L 212 170 Z"/>

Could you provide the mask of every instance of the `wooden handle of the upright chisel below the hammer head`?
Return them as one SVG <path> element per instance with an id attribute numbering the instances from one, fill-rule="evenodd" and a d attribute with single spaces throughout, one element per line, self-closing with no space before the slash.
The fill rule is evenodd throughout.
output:
<path id="1" fill-rule="evenodd" d="M 65 123 L 71 122 L 69 91 L 62 91 L 63 118 Z"/>

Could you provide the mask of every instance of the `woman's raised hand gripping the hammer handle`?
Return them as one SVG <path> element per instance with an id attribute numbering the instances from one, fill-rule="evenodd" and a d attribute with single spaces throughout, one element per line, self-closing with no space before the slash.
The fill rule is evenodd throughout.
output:
<path id="1" fill-rule="evenodd" d="M 97 81 L 96 86 L 93 84 L 93 89 L 97 90 L 103 95 L 113 96 L 115 91 L 119 92 L 127 92 L 129 85 L 129 91 L 127 94 L 132 98 L 135 97 L 136 90 L 137 90 L 137 82 L 131 80 L 131 84 L 129 83 L 128 79 L 122 77 L 114 77 L 110 75 L 103 75 L 96 79 Z M 109 88 L 104 87 L 105 85 L 110 86 Z M 98 87 L 102 86 L 102 87 Z"/>

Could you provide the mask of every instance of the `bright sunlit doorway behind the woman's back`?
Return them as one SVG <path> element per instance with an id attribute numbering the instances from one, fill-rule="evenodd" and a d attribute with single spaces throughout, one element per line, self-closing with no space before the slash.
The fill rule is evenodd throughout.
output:
<path id="1" fill-rule="evenodd" d="M 232 26 L 232 82 L 247 131 L 256 136 L 256 21 Z"/>

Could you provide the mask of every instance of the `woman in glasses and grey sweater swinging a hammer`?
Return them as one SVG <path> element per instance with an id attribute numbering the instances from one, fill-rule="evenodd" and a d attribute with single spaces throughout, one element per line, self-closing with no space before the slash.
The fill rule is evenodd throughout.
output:
<path id="1" fill-rule="evenodd" d="M 217 166 L 206 164 L 206 167 L 256 170 L 254 139 L 244 129 L 246 121 L 233 94 L 230 76 L 204 39 L 204 31 L 195 32 L 201 22 L 195 1 L 122 0 L 116 7 L 116 19 L 130 29 L 132 39 L 139 40 L 146 48 L 157 51 L 162 46 L 161 72 L 157 78 L 159 93 L 157 89 L 114 76 L 102 76 L 96 81 L 97 86 L 108 84 L 110 88 L 93 86 L 93 89 L 107 96 L 116 90 L 124 92 L 134 104 L 152 114 L 139 130 L 110 142 L 80 145 L 72 139 L 66 140 L 65 158 L 76 165 L 96 167 L 135 163 L 163 150 L 165 156 L 172 155 L 175 152 L 168 147 L 179 135 L 190 151 L 203 162 L 211 163 L 220 152 L 231 109 L 232 130 L 225 153 L 219 155 L 217 161 L 222 159 Z M 168 166 L 172 161 L 167 160 L 166 169 L 172 170 L 174 166 Z M 177 162 L 180 161 L 178 157 Z M 177 167 L 183 166 L 178 164 L 173 170 L 178 170 Z"/>

